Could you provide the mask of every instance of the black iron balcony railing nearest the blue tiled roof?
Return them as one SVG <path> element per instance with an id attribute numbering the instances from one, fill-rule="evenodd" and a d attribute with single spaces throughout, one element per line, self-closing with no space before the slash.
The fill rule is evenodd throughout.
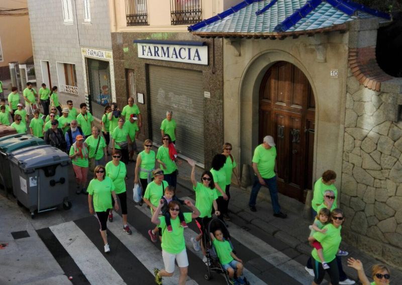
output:
<path id="1" fill-rule="evenodd" d="M 170 0 L 172 25 L 195 24 L 202 20 L 202 0 Z"/>

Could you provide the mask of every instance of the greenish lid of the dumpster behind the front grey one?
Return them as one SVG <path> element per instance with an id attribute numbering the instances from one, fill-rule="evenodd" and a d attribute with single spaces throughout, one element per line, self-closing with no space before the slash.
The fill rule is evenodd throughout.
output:
<path id="1" fill-rule="evenodd" d="M 28 134 L 14 134 L 0 138 L 0 151 L 3 153 L 12 152 L 24 147 L 44 145 L 43 139 Z"/>

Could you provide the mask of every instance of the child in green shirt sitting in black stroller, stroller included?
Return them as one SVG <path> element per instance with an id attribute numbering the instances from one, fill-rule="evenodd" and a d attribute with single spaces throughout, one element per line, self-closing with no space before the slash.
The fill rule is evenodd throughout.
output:
<path id="1" fill-rule="evenodd" d="M 211 240 L 207 256 L 212 266 L 217 265 L 217 268 L 211 269 L 220 269 L 225 274 L 227 284 L 249 284 L 243 276 L 243 261 L 235 254 L 225 224 L 219 219 L 213 219 L 208 226 L 208 233 Z"/>

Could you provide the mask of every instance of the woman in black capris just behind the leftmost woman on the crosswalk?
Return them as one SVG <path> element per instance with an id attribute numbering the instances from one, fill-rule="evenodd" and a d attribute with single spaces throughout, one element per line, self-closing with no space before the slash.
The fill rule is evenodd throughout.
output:
<path id="1" fill-rule="evenodd" d="M 115 184 L 116 195 L 120 199 L 123 217 L 123 231 L 131 235 L 130 227 L 127 224 L 127 192 L 126 192 L 126 164 L 120 161 L 122 153 L 115 149 L 112 153 L 112 161 L 106 164 L 106 175 L 109 176 Z M 112 202 L 113 204 L 113 202 Z M 109 211 L 109 222 L 113 222 L 113 210 Z"/>

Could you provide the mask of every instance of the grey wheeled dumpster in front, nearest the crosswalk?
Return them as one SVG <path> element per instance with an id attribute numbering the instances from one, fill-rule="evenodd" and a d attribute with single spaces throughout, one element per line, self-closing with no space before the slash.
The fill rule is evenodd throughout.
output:
<path id="1" fill-rule="evenodd" d="M 35 213 L 62 206 L 68 201 L 68 168 L 70 159 L 65 152 L 50 145 L 40 145 L 13 151 L 8 155 L 14 195 L 34 218 Z"/>

